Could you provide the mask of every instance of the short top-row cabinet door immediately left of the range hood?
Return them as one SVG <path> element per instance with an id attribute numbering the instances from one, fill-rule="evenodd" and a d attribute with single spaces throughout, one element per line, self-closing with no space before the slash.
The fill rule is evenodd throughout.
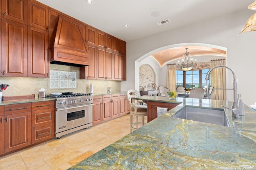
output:
<path id="1" fill-rule="evenodd" d="M 48 31 L 49 9 L 28 1 L 28 25 Z"/>

